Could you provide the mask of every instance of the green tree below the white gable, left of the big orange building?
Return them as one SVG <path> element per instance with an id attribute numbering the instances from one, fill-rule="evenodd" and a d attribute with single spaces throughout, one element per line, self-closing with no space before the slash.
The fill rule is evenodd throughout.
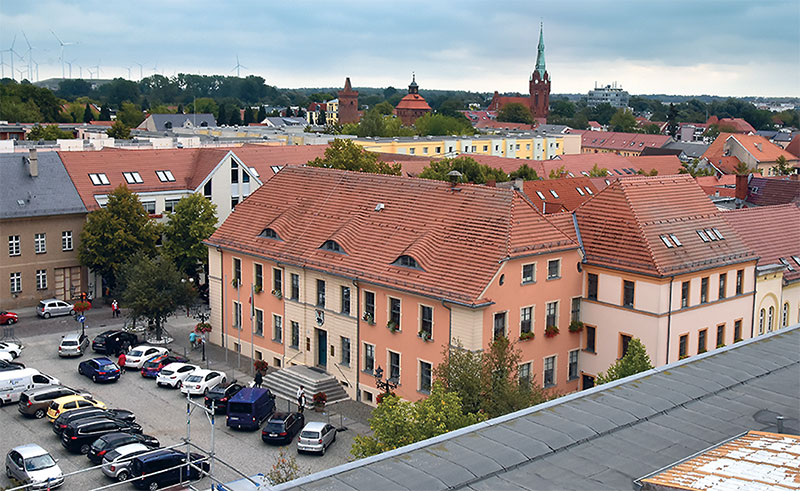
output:
<path id="1" fill-rule="evenodd" d="M 164 225 L 163 253 L 187 278 L 197 284 L 200 271 L 208 264 L 208 248 L 203 241 L 211 237 L 217 224 L 217 205 L 200 193 L 187 196 L 175 206 Z"/>

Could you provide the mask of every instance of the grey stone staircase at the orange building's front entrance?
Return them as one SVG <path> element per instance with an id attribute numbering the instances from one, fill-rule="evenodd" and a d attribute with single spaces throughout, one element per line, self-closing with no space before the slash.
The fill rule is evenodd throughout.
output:
<path id="1" fill-rule="evenodd" d="M 324 392 L 328 396 L 328 404 L 350 399 L 336 377 L 318 368 L 296 365 L 280 370 L 270 370 L 264 376 L 263 386 L 269 388 L 276 396 L 292 403 L 297 402 L 297 389 L 305 388 L 306 407 L 313 404 L 314 394 Z"/>

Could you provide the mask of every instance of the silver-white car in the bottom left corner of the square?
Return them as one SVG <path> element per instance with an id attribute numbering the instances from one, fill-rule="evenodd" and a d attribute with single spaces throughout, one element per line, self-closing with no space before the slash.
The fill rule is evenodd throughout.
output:
<path id="1" fill-rule="evenodd" d="M 57 461 L 35 443 L 20 445 L 8 452 L 6 476 L 29 485 L 28 489 L 53 489 L 64 484 Z"/>

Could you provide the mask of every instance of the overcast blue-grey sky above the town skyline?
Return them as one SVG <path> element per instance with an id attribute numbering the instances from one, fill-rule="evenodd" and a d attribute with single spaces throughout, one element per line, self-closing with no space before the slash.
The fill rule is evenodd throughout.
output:
<path id="1" fill-rule="evenodd" d="M 278 87 L 527 92 L 544 22 L 554 93 L 800 96 L 799 0 L 0 0 L 0 48 L 39 78 L 255 74 Z M 11 70 L 3 52 L 3 71 Z M 69 66 L 65 65 L 69 75 Z M 27 73 L 23 73 L 27 76 Z M 34 73 L 35 76 L 35 73 Z"/>

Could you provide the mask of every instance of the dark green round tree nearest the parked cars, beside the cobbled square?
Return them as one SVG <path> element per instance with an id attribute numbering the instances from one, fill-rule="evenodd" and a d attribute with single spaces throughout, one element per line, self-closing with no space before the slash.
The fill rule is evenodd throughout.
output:
<path id="1" fill-rule="evenodd" d="M 120 270 L 123 304 L 134 319 L 148 319 L 155 326 L 156 339 L 163 336 L 164 322 L 179 308 L 194 302 L 196 292 L 191 282 L 178 272 L 167 257 L 137 252 Z"/>

